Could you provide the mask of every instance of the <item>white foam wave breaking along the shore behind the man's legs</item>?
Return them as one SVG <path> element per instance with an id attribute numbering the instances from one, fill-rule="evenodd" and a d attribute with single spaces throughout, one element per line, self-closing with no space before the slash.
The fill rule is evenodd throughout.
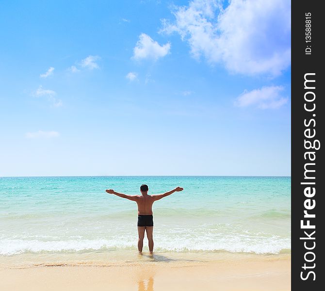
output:
<path id="1" fill-rule="evenodd" d="M 159 252 L 197 252 L 197 251 L 228 251 L 257 254 L 276 254 L 281 250 L 291 249 L 290 238 L 259 238 L 258 240 L 242 240 L 238 237 L 228 237 L 215 241 L 206 240 L 163 240 L 156 238 L 155 250 Z M 25 252 L 81 252 L 108 249 L 137 249 L 136 240 L 66 240 L 66 241 L 39 241 L 39 240 L 0 240 L 0 255 L 8 256 Z"/>

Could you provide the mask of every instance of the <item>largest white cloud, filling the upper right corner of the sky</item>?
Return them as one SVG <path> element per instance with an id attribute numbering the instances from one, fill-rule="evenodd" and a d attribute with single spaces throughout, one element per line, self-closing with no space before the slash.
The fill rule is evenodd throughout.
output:
<path id="1" fill-rule="evenodd" d="M 192 55 L 245 75 L 276 76 L 291 64 L 291 1 L 193 0 L 176 7 L 175 22 L 161 32 L 178 32 Z"/>

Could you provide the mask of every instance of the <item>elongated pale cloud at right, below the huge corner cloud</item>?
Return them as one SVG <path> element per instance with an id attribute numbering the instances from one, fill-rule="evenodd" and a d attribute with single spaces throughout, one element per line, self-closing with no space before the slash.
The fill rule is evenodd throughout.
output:
<path id="1" fill-rule="evenodd" d="M 238 107 L 256 106 L 260 109 L 276 109 L 288 102 L 287 97 L 282 97 L 282 86 L 268 86 L 252 91 L 245 90 L 235 100 Z"/>

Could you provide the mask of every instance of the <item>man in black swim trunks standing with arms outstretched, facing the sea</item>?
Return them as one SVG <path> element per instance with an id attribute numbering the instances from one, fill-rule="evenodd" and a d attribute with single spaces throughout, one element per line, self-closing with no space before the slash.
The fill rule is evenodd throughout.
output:
<path id="1" fill-rule="evenodd" d="M 182 191 L 183 188 L 177 187 L 172 191 L 166 192 L 164 194 L 157 194 L 157 195 L 148 195 L 148 186 L 142 184 L 140 187 L 141 195 L 127 195 L 117 193 L 114 190 L 106 190 L 109 194 L 115 194 L 122 198 L 127 198 L 129 200 L 135 201 L 138 205 L 138 250 L 139 254 L 142 254 L 143 248 L 143 239 L 145 237 L 145 230 L 146 230 L 146 237 L 148 238 L 149 244 L 149 252 L 152 255 L 153 252 L 153 239 L 152 239 L 152 232 L 153 232 L 153 216 L 152 216 L 152 204 L 166 197 L 174 192 Z"/>

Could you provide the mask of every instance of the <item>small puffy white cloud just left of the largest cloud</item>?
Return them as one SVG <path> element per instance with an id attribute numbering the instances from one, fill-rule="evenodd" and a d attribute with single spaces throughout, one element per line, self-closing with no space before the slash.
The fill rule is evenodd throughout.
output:
<path id="1" fill-rule="evenodd" d="M 170 43 L 159 45 L 158 42 L 154 41 L 146 33 L 141 33 L 139 40 L 133 49 L 133 58 L 136 60 L 140 59 L 153 59 L 157 60 L 164 57 L 169 53 Z"/>

